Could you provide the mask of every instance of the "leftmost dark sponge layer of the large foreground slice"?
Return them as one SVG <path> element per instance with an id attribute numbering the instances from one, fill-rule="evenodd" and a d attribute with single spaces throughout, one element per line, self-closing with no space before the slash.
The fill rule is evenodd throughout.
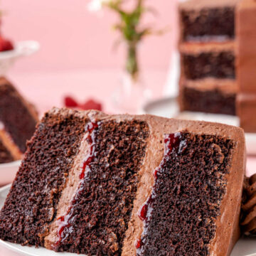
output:
<path id="1" fill-rule="evenodd" d="M 87 119 L 46 114 L 23 158 L 0 212 L 0 238 L 42 245 L 72 167 Z"/>

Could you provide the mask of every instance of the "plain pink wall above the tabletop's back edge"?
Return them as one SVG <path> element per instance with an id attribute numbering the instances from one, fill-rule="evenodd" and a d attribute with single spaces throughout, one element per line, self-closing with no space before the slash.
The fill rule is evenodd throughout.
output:
<path id="1" fill-rule="evenodd" d="M 145 69 L 166 70 L 176 38 L 176 0 L 148 0 L 159 12 L 148 15 L 156 28 L 169 26 L 164 36 L 150 36 L 142 43 L 141 63 Z M 88 0 L 1 0 L 3 33 L 14 41 L 36 40 L 41 50 L 16 63 L 15 71 L 41 72 L 70 69 L 119 68 L 122 46 L 113 51 L 118 34 L 111 30 L 116 17 L 87 11 Z"/>

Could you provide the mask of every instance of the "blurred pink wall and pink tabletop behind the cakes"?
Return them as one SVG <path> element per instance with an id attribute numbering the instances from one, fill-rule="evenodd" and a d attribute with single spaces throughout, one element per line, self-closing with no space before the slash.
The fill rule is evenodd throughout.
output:
<path id="1" fill-rule="evenodd" d="M 94 98 L 105 112 L 119 112 L 111 97 L 119 86 L 124 46 L 113 50 L 119 38 L 110 11 L 87 10 L 89 0 L 2 0 L 2 32 L 14 41 L 36 40 L 41 50 L 18 60 L 9 79 L 41 114 L 53 105 L 63 106 L 64 95 L 80 101 Z M 139 50 L 144 83 L 155 98 L 163 96 L 171 53 L 176 45 L 177 0 L 146 0 L 157 16 L 146 14 L 145 24 L 168 28 L 164 36 L 149 36 Z"/>

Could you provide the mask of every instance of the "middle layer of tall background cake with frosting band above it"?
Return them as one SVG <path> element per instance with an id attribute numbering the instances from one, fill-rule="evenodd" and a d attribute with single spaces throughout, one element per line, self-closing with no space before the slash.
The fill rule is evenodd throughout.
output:
<path id="1" fill-rule="evenodd" d="M 234 43 L 183 43 L 179 48 L 183 75 L 187 79 L 235 79 Z"/>

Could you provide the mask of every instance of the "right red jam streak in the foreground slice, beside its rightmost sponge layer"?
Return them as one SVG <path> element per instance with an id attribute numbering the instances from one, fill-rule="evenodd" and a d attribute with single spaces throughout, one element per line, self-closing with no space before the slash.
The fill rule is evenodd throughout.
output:
<path id="1" fill-rule="evenodd" d="M 161 161 L 161 164 L 154 170 L 154 183 L 156 183 L 159 172 L 164 169 L 166 161 L 169 160 L 172 153 L 180 154 L 186 149 L 186 140 L 181 140 L 181 133 L 177 132 L 175 134 L 166 134 L 164 137 L 164 157 Z M 138 216 L 144 222 L 144 226 L 149 222 L 151 217 L 151 211 L 153 210 L 151 205 L 155 200 L 154 188 L 151 195 L 146 200 L 146 203 L 139 210 Z M 140 255 L 142 249 L 143 241 L 138 239 L 136 243 L 137 255 Z"/>

